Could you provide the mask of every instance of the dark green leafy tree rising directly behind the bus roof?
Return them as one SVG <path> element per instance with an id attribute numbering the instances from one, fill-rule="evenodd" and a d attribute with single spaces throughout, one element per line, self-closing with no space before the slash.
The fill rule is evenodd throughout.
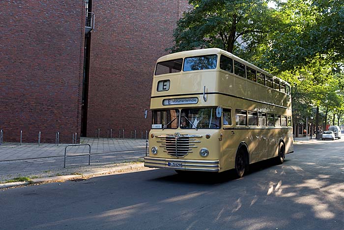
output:
<path id="1" fill-rule="evenodd" d="M 242 44 L 254 50 L 277 20 L 266 0 L 189 0 L 189 4 L 194 8 L 178 21 L 172 52 L 216 47 L 238 53 Z"/>

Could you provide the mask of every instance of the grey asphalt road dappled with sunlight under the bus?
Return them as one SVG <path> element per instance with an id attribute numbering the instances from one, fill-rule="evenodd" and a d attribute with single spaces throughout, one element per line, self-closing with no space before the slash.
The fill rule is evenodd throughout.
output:
<path id="1" fill-rule="evenodd" d="M 238 180 L 151 169 L 0 191 L 0 229 L 343 230 L 344 139 L 294 151 Z"/>

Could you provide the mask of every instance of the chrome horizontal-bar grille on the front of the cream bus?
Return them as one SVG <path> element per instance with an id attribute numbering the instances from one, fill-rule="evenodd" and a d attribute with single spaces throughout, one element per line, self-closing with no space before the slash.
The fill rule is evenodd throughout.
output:
<path id="1" fill-rule="evenodd" d="M 174 135 L 161 135 L 158 136 L 161 139 L 159 147 L 164 148 L 164 152 L 168 153 L 172 157 L 185 157 L 189 153 L 192 153 L 193 148 L 197 148 L 196 143 L 201 141 L 197 140 L 200 135 L 183 135 L 175 133 Z"/>

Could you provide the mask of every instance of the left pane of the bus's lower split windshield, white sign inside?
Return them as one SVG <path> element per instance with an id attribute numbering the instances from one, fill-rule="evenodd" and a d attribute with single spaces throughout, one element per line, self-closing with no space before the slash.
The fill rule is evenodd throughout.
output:
<path id="1" fill-rule="evenodd" d="M 177 129 L 179 126 L 179 110 L 153 110 L 152 129 Z"/>

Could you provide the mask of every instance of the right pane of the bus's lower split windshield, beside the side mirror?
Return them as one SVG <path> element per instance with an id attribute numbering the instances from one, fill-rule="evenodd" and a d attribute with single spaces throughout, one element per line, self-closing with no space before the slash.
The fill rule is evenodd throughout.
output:
<path id="1" fill-rule="evenodd" d="M 219 129 L 216 108 L 186 108 L 180 112 L 181 129 Z"/>

